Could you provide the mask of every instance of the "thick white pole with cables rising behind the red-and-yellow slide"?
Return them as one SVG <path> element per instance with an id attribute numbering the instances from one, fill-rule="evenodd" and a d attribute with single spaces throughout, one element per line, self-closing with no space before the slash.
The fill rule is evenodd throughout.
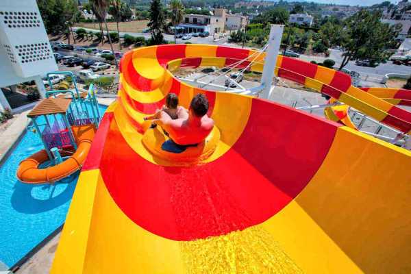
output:
<path id="1" fill-rule="evenodd" d="M 277 62 L 277 55 L 279 45 L 281 44 L 283 25 L 271 25 L 269 46 L 266 50 L 266 57 L 264 60 L 264 69 L 262 71 L 261 84 L 263 85 L 262 98 L 269 99 L 271 92 L 271 85 L 273 83 L 273 76 L 275 65 Z"/>

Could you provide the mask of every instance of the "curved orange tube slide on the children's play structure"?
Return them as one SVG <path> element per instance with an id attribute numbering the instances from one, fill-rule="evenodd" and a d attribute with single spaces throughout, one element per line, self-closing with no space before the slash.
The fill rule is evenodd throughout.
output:
<path id="1" fill-rule="evenodd" d="M 75 153 L 71 155 L 68 151 L 62 151 L 62 156 L 69 156 L 69 158 L 47 169 L 39 169 L 40 164 L 49 160 L 47 152 L 42 149 L 20 163 L 17 178 L 27 184 L 43 184 L 56 182 L 81 169 L 90 151 L 91 142 L 95 136 L 95 127 L 92 125 L 73 126 L 72 130 L 77 143 Z"/>

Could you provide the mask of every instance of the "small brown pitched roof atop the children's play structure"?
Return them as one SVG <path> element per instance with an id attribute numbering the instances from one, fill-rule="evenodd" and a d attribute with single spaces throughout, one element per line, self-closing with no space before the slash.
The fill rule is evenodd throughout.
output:
<path id="1" fill-rule="evenodd" d="M 34 118 L 45 114 L 65 114 L 70 103 L 71 99 L 65 98 L 42 99 L 40 103 L 38 103 L 32 111 L 29 112 L 29 114 L 27 114 L 27 117 Z"/>

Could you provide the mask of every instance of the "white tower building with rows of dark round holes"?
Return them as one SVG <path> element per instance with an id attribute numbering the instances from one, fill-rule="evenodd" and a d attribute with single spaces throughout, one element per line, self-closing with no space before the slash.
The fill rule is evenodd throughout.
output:
<path id="1" fill-rule="evenodd" d="M 36 0 L 0 1 L 0 64 L 1 112 L 12 110 L 3 90 L 16 92 L 16 84 L 34 80 L 40 97 L 45 97 L 41 75 L 58 67 Z"/>

